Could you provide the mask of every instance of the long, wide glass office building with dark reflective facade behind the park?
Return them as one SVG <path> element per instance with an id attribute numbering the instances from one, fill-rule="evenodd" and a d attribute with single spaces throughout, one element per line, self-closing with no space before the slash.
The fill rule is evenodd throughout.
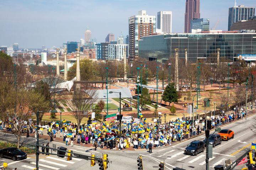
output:
<path id="1" fill-rule="evenodd" d="M 256 54 L 256 33 L 196 33 L 196 34 L 160 34 L 144 36 L 139 40 L 139 60 L 166 62 L 175 57 L 179 49 L 179 58 L 188 61 L 217 61 L 217 49 L 220 49 L 221 61 L 234 61 L 241 54 Z"/>

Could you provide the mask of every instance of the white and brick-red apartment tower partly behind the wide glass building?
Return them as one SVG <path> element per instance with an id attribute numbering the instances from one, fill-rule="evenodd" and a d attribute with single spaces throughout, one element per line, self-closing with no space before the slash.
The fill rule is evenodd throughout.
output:
<path id="1" fill-rule="evenodd" d="M 138 15 L 129 17 L 129 60 L 138 59 L 139 39 L 154 34 L 155 19 L 155 16 L 147 15 L 146 11 L 139 11 Z"/>

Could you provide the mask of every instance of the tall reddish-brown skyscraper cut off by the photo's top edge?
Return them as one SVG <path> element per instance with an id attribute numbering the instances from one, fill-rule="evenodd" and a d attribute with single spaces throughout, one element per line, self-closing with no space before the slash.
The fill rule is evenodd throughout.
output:
<path id="1" fill-rule="evenodd" d="M 193 18 L 200 18 L 200 0 L 186 0 L 185 12 L 185 33 L 191 33 L 191 21 Z"/>

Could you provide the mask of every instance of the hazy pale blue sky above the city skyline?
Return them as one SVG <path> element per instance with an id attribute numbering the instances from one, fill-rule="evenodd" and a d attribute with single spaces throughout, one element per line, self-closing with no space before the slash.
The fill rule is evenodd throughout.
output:
<path id="1" fill-rule="evenodd" d="M 0 46 L 17 42 L 19 48 L 62 46 L 84 39 L 87 26 L 97 42 L 108 32 L 115 38 L 128 31 L 128 18 L 146 10 L 148 15 L 172 11 L 172 32 L 184 32 L 186 0 L 1 0 Z M 201 18 L 210 28 L 228 29 L 228 8 L 235 0 L 201 0 Z M 237 5 L 256 7 L 255 0 L 236 0 Z"/>

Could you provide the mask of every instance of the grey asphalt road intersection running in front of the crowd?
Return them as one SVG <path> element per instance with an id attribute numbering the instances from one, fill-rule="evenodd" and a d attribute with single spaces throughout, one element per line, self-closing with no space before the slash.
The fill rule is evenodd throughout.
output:
<path id="1" fill-rule="evenodd" d="M 221 145 L 217 145 L 213 148 L 213 158 L 209 161 L 209 169 L 214 170 L 215 165 L 223 165 L 226 159 L 236 160 L 240 155 L 242 155 L 246 149 L 250 148 L 250 143 L 256 141 L 256 130 L 252 128 L 252 124 L 255 124 L 256 115 L 249 117 L 249 120 L 245 123 L 245 120 L 236 121 L 231 124 L 222 126 L 222 129 L 231 129 L 234 131 L 234 139 L 229 141 L 222 141 Z M 213 133 L 213 131 L 211 131 Z M 15 140 L 12 134 L 4 134 L 0 132 L 0 138 L 5 138 L 6 140 Z M 108 158 L 112 163 L 108 166 L 108 169 L 119 169 L 119 170 L 135 170 L 138 169 L 137 158 L 139 154 L 147 155 L 151 158 L 143 157 L 143 168 L 144 170 L 156 170 L 158 169 L 158 162 L 165 161 L 166 168 L 171 169 L 173 167 L 179 167 L 186 170 L 199 170 L 205 169 L 205 159 L 206 159 L 206 149 L 203 153 L 199 153 L 197 156 L 185 155 L 184 149 L 193 140 L 203 140 L 204 135 L 198 136 L 196 138 L 177 143 L 173 146 L 163 147 L 158 149 L 153 149 L 153 153 L 148 153 L 145 150 L 138 151 L 127 151 L 127 150 L 102 150 L 97 149 L 93 151 L 92 148 L 86 148 L 81 146 L 68 147 L 68 149 L 73 150 L 73 152 L 91 155 L 95 154 L 96 157 L 101 157 L 102 153 L 107 153 Z M 35 138 L 22 138 L 26 143 L 35 143 Z M 40 144 L 46 144 L 49 141 L 40 140 Z M 64 143 L 60 142 L 50 142 L 50 147 L 52 144 L 59 146 L 65 146 Z M 55 152 L 53 152 L 55 153 Z M 11 159 L 2 158 L 0 159 L 0 164 L 7 162 L 7 170 L 17 168 L 18 170 L 28 170 L 35 167 L 35 155 L 29 156 L 28 159 L 22 161 L 12 161 Z M 39 158 L 39 169 L 41 170 L 98 170 L 99 166 L 96 164 L 90 167 L 90 161 L 74 158 L 70 162 L 66 161 L 65 158 L 58 158 L 57 156 L 50 155 L 40 155 Z M 237 166 L 235 169 L 242 169 L 244 165 Z"/>

